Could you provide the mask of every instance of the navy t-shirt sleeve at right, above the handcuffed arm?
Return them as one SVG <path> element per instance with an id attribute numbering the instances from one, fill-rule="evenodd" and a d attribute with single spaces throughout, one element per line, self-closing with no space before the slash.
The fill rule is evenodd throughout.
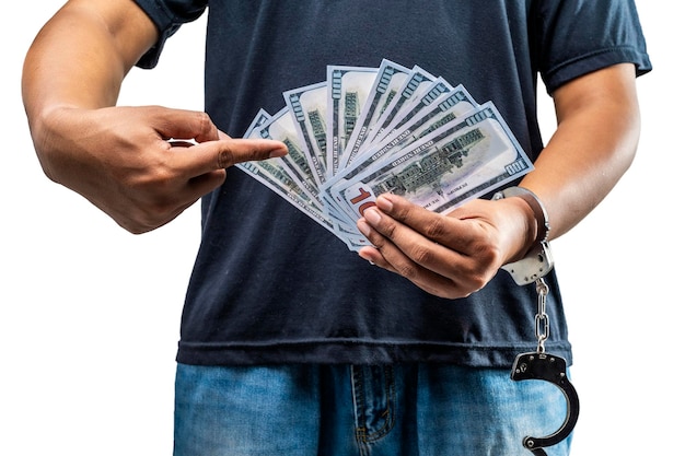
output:
<path id="1" fill-rule="evenodd" d="M 616 63 L 634 63 L 637 75 L 651 70 L 634 0 L 544 0 L 538 4 L 538 70 L 547 92 Z"/>

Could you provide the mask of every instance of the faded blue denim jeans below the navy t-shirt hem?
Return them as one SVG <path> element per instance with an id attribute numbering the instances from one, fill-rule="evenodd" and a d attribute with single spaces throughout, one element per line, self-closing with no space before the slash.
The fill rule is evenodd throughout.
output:
<path id="1" fill-rule="evenodd" d="M 179 364 L 174 455 L 531 456 L 523 437 L 560 428 L 566 399 L 549 383 L 509 374 L 442 364 Z M 568 455 L 569 440 L 545 451 Z"/>

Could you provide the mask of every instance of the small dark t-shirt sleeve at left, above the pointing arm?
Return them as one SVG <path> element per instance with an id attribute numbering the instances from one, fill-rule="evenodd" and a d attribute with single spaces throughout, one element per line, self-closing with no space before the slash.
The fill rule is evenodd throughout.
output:
<path id="1" fill-rule="evenodd" d="M 166 39 L 176 33 L 184 23 L 195 21 L 201 16 L 207 8 L 207 0 L 135 1 L 150 16 L 160 32 L 156 44 L 136 63 L 140 68 L 153 68 L 156 66 Z"/>

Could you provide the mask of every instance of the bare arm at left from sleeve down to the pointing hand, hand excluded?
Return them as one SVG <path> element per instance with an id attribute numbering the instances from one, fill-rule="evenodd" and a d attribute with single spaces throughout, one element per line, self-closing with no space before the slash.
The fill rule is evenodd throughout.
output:
<path id="1" fill-rule="evenodd" d="M 26 57 L 23 95 L 30 120 L 61 107 L 113 106 L 124 77 L 156 37 L 156 27 L 132 1 L 69 1 Z"/>

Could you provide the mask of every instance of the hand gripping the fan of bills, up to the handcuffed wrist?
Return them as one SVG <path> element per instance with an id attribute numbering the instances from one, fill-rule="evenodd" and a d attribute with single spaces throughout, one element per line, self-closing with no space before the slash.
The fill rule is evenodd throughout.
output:
<path id="1" fill-rule="evenodd" d="M 468 296 L 535 239 L 534 214 L 515 200 L 475 199 L 443 215 L 382 195 L 357 223 L 373 244 L 359 256 L 437 296 Z"/>

